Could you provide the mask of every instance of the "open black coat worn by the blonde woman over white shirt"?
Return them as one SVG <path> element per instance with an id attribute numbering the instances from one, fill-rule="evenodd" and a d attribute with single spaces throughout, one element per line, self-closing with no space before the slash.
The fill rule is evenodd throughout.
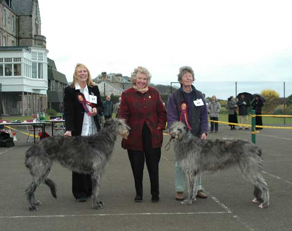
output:
<path id="1" fill-rule="evenodd" d="M 100 94 L 97 86 L 88 86 L 89 94 L 94 94 L 97 97 L 97 114 L 103 112 L 103 104 L 100 99 Z M 77 93 L 79 90 L 75 90 L 72 86 L 68 86 L 64 89 L 64 112 L 65 112 L 65 127 L 66 131 L 72 131 L 72 135 L 81 135 L 83 118 L 85 110 L 82 104 L 77 100 Z M 97 130 L 100 129 L 98 122 L 98 116 L 93 117 Z"/>

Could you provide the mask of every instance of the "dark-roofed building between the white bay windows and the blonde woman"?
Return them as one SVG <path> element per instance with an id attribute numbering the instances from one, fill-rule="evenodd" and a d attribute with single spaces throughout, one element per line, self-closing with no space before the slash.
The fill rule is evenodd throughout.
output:
<path id="1" fill-rule="evenodd" d="M 48 58 L 48 108 L 63 111 L 64 88 L 67 86 L 66 76 L 58 72 L 54 60 Z"/>

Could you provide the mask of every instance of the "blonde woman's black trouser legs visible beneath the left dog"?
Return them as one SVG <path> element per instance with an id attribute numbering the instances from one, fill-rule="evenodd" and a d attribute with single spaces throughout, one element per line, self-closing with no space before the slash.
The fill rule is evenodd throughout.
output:
<path id="1" fill-rule="evenodd" d="M 72 172 L 72 193 L 76 199 L 92 195 L 91 175 Z"/>

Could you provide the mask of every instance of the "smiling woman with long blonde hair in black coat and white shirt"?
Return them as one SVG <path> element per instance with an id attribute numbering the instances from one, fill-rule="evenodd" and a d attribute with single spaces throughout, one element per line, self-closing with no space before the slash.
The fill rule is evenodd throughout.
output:
<path id="1" fill-rule="evenodd" d="M 98 87 L 92 82 L 90 72 L 84 64 L 76 64 L 73 84 L 66 87 L 64 93 L 66 127 L 64 135 L 77 136 L 96 133 L 100 129 L 97 114 L 103 112 L 103 104 Z M 77 97 L 81 93 L 82 97 Z M 82 104 L 80 99 L 91 102 L 91 106 Z M 92 194 L 91 175 L 73 172 L 72 192 L 78 202 L 86 201 L 86 198 Z"/>

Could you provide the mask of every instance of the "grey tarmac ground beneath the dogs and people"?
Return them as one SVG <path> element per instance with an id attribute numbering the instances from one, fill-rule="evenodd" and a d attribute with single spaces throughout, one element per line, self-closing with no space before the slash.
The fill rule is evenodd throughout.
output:
<path id="1" fill-rule="evenodd" d="M 256 137 L 263 149 L 264 177 L 270 190 L 270 207 L 258 209 L 252 203 L 253 187 L 236 169 L 204 175 L 202 184 L 210 195 L 183 206 L 174 199 L 174 154 L 162 151 L 159 203 L 151 203 L 145 170 L 144 202 L 135 203 L 134 182 L 128 156 L 120 139 L 102 179 L 103 210 L 91 209 L 91 201 L 77 203 L 71 193 L 71 172 L 55 164 L 51 178 L 57 196 L 41 185 L 36 197 L 39 211 L 30 212 L 24 190 L 31 176 L 24 167 L 24 153 L 30 147 L 17 134 L 14 148 L 0 148 L 0 231 L 291 231 L 292 230 L 292 131 L 264 129 Z M 219 126 L 208 138 L 251 139 L 245 130 L 230 131 Z M 164 136 L 164 146 L 168 141 Z M 164 147 L 163 146 L 163 147 Z"/>

